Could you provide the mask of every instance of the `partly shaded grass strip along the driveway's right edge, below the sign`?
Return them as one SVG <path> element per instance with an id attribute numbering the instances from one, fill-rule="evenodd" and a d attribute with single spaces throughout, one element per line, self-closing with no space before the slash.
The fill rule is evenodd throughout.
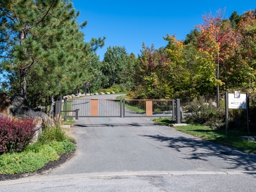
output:
<path id="1" fill-rule="evenodd" d="M 170 125 L 172 120 L 168 118 L 157 118 L 154 120 L 157 124 Z M 173 127 L 177 131 L 186 132 L 198 138 L 202 138 L 205 141 L 211 141 L 219 145 L 236 148 L 243 152 L 256 154 L 256 142 L 247 141 L 239 138 L 239 136 L 256 136 L 255 133 L 248 134 L 239 130 L 229 130 L 229 134 L 226 134 L 225 129 L 211 129 L 204 125 L 188 125 L 188 126 L 175 126 Z"/>

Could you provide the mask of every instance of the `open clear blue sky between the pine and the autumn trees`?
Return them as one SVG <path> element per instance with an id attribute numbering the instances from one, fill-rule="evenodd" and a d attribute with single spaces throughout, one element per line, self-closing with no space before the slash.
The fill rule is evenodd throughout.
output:
<path id="1" fill-rule="evenodd" d="M 116 1 L 116 0 L 73 0 L 81 14 L 79 23 L 88 20 L 83 29 L 85 41 L 92 37 L 106 36 L 106 44 L 97 51 L 100 60 L 109 46 L 124 46 L 128 53 L 140 54 L 142 42 L 154 44 L 156 49 L 164 47 L 166 34 L 184 40 L 194 26 L 203 23 L 202 15 L 216 13 L 225 8 L 228 19 L 235 10 L 239 15 L 256 8 L 255 1 Z"/>

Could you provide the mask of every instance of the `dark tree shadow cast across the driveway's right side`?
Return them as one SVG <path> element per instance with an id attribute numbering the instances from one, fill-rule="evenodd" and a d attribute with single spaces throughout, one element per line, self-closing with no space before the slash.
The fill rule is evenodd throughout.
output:
<path id="1" fill-rule="evenodd" d="M 209 161 L 211 157 L 218 157 L 226 163 L 231 164 L 232 168 L 243 168 L 244 171 L 256 171 L 256 155 L 240 152 L 238 150 L 217 145 L 208 141 L 203 141 L 197 138 L 186 138 L 178 136 L 175 138 L 161 135 L 140 135 L 152 140 L 166 142 L 167 147 L 173 148 L 178 152 L 182 152 L 182 148 L 191 149 L 190 154 L 184 154 L 184 159 L 200 159 Z"/>

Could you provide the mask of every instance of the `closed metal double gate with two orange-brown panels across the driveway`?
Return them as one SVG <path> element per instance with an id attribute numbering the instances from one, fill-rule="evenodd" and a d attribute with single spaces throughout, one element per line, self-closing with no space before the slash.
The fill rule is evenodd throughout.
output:
<path id="1" fill-rule="evenodd" d="M 56 102 L 56 114 L 79 117 L 172 117 L 180 123 L 180 100 L 65 99 Z M 60 106 L 61 105 L 61 106 Z M 77 112 L 79 111 L 79 112 Z M 173 113 L 174 112 L 174 113 Z M 77 114 L 78 113 L 78 114 Z"/>

